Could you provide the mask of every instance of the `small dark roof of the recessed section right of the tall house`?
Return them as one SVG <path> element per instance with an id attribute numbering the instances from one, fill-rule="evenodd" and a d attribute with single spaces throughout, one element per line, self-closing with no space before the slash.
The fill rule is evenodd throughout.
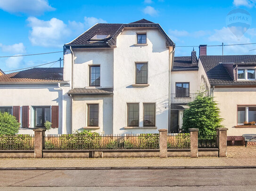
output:
<path id="1" fill-rule="evenodd" d="M 198 70 L 198 65 L 197 63 L 192 64 L 191 56 L 175 56 L 173 71 L 175 70 Z"/>

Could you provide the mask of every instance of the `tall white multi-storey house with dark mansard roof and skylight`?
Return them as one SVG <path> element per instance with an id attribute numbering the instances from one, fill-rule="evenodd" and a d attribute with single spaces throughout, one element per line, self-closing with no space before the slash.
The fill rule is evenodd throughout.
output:
<path id="1" fill-rule="evenodd" d="M 175 44 L 158 23 L 98 23 L 64 45 L 72 131 L 157 133 L 168 129 Z"/>

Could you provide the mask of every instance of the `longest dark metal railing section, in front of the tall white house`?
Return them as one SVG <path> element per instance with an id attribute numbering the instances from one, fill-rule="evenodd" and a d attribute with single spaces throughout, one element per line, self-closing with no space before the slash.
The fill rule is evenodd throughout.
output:
<path id="1" fill-rule="evenodd" d="M 159 149 L 159 134 L 48 135 L 46 150 Z"/>

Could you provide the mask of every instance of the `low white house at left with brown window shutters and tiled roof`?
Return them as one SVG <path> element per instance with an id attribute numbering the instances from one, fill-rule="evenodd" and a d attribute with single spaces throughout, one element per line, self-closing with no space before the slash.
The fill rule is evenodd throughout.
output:
<path id="1" fill-rule="evenodd" d="M 50 134 L 70 133 L 71 107 L 63 81 L 63 68 L 33 68 L 0 76 L 0 112 L 14 115 L 21 123 L 20 134 L 52 122 Z"/>

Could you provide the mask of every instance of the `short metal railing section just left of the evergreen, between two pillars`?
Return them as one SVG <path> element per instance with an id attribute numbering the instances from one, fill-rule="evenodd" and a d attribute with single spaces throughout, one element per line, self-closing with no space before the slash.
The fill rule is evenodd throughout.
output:
<path id="1" fill-rule="evenodd" d="M 167 135 L 168 149 L 190 149 L 189 133 L 171 133 Z"/>

